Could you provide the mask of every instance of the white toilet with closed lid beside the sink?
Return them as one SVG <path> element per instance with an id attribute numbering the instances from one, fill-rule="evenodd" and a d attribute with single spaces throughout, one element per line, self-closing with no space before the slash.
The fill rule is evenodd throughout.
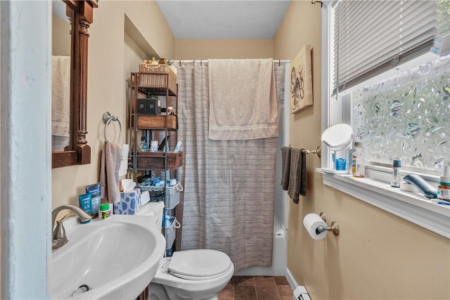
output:
<path id="1" fill-rule="evenodd" d="M 153 215 L 162 226 L 164 202 L 150 202 L 137 214 Z M 218 300 L 234 273 L 228 255 L 212 249 L 174 252 L 163 257 L 148 285 L 149 300 Z"/>

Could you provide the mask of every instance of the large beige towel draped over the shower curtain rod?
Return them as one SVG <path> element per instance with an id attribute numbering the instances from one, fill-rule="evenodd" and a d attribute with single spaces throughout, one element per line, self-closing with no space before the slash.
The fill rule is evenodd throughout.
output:
<path id="1" fill-rule="evenodd" d="M 274 61 L 208 60 L 212 140 L 278 136 Z"/>

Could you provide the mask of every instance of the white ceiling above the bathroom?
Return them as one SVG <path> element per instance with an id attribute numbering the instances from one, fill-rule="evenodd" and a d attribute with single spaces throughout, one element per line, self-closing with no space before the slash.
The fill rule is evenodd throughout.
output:
<path id="1" fill-rule="evenodd" d="M 176 39 L 272 39 L 290 0 L 157 0 Z"/>

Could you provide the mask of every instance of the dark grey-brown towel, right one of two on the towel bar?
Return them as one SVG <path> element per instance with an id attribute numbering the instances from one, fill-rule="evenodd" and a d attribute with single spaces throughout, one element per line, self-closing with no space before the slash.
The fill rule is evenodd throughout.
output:
<path id="1" fill-rule="evenodd" d="M 307 154 L 302 149 L 290 150 L 288 195 L 298 204 L 300 195 L 307 195 Z"/>

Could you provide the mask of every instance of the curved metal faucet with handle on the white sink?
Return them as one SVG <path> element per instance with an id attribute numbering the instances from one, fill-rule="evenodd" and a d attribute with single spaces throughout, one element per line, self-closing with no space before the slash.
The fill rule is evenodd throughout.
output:
<path id="1" fill-rule="evenodd" d="M 51 252 L 55 252 L 56 250 L 60 249 L 60 247 L 63 247 L 69 241 L 68 237 L 65 235 L 63 221 L 56 221 L 55 226 L 56 216 L 58 216 L 58 213 L 64 209 L 69 209 L 70 211 L 75 212 L 75 214 L 77 214 L 77 216 L 79 217 L 79 223 L 89 223 L 89 221 L 91 221 L 92 219 L 92 216 L 87 214 L 79 207 L 75 207 L 74 205 L 61 205 L 60 207 L 56 207 L 56 209 L 53 209 L 53 211 L 51 212 L 51 226 L 53 230 Z"/>

